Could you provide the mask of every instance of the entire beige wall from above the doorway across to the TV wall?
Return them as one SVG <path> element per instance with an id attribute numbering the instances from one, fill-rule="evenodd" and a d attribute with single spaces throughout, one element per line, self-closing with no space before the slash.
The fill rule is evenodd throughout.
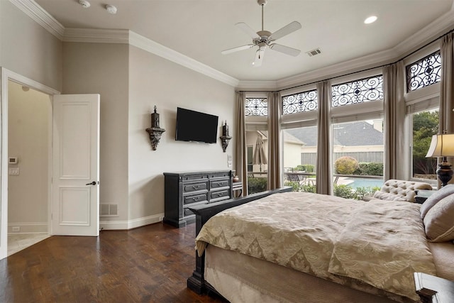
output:
<path id="1" fill-rule="evenodd" d="M 226 153 L 220 141 L 177 142 L 175 123 L 185 107 L 219 116 L 219 136 L 227 120 L 234 136 L 233 87 L 126 44 L 62 43 L 9 1 L 0 0 L 0 17 L 2 67 L 63 94 L 101 95 L 100 203 L 118 204 L 118 216 L 101 221 L 159 219 L 162 172 L 230 168 L 234 138 Z M 154 105 L 166 129 L 155 151 L 145 131 Z"/>

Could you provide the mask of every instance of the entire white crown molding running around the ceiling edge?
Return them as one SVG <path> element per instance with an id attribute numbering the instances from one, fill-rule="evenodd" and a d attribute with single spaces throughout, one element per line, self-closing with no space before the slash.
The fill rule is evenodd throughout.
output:
<path id="1" fill-rule="evenodd" d="M 1 1 L 1 0 L 0 0 Z M 408 55 L 412 51 L 433 40 L 438 35 L 454 27 L 454 4 L 450 11 L 430 23 L 428 26 L 411 35 L 394 48 L 384 50 L 380 53 L 367 55 L 353 60 L 348 60 L 319 70 L 301 73 L 292 77 L 278 79 L 276 81 L 250 81 L 239 80 L 219 72 L 208 65 L 196 61 L 182 53 L 165 47 L 153 40 L 143 37 L 138 33 L 129 30 L 109 30 L 92 28 L 65 28 L 47 11 L 39 6 L 34 0 L 9 0 L 12 4 L 30 16 L 40 26 L 65 42 L 87 42 L 87 43 L 125 43 L 158 55 L 191 70 L 199 72 L 220 82 L 226 83 L 237 89 L 286 89 L 295 85 L 319 81 L 330 77 L 338 77 L 345 73 L 364 70 L 369 67 L 377 67 L 389 64 L 399 58 Z"/>

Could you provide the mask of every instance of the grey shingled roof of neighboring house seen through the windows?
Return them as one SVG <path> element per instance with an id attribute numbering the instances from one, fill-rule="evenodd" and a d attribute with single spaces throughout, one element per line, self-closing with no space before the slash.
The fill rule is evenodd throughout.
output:
<path id="1" fill-rule="evenodd" d="M 317 145 L 317 127 L 287 129 L 285 132 L 305 143 L 305 146 Z M 334 145 L 362 146 L 382 145 L 383 133 L 365 121 L 341 123 L 334 128 Z"/>

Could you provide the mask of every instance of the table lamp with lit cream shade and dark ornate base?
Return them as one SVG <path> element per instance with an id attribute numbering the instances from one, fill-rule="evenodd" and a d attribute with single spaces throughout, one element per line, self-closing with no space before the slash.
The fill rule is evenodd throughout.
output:
<path id="1" fill-rule="evenodd" d="M 429 157 L 443 157 L 443 161 L 438 164 L 437 175 L 442 183 L 441 187 L 445 186 L 453 177 L 453 170 L 446 157 L 454 157 L 454 133 L 433 135 L 426 155 L 426 158 Z"/>

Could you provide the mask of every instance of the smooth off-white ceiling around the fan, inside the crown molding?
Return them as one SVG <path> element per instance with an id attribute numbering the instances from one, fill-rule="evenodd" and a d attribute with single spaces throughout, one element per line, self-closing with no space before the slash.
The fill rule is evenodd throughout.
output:
<path id="1" fill-rule="evenodd" d="M 265 31 L 299 21 L 302 28 L 277 43 L 301 53 L 267 49 L 262 66 L 253 67 L 256 48 L 228 55 L 221 50 L 251 43 L 236 23 L 261 30 L 256 0 L 89 0 L 88 9 L 79 0 L 35 1 L 65 28 L 129 29 L 240 81 L 277 81 L 393 50 L 433 21 L 453 16 L 453 0 L 269 0 Z M 108 13 L 106 4 L 118 12 Z M 364 24 L 371 15 L 377 21 Z M 309 57 L 315 48 L 321 54 Z"/>

